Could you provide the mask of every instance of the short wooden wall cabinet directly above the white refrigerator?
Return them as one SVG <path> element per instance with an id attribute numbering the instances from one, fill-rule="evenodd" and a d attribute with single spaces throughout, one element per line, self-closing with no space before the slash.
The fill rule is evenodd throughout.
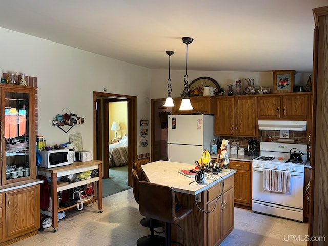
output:
<path id="1" fill-rule="evenodd" d="M 202 114 L 215 113 L 215 97 L 214 96 L 194 96 L 189 97 L 193 110 L 179 110 L 182 97 L 173 98 L 174 107 L 172 108 L 173 114 L 192 114 L 194 112 Z"/>

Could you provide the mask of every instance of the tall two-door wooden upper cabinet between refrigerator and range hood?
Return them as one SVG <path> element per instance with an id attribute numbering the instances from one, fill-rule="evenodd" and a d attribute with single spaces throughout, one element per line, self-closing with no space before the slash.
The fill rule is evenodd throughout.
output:
<path id="1" fill-rule="evenodd" d="M 256 97 L 216 98 L 214 135 L 256 137 Z"/>

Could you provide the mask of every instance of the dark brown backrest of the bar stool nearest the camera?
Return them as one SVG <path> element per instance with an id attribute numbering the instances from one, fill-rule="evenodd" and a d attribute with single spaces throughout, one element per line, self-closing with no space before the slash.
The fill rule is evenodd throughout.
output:
<path id="1" fill-rule="evenodd" d="M 139 182 L 139 212 L 149 218 L 174 223 L 175 193 L 172 187 Z"/>

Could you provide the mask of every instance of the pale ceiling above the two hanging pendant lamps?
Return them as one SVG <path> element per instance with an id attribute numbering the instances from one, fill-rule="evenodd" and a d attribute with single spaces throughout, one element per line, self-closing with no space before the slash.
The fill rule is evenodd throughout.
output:
<path id="1" fill-rule="evenodd" d="M 312 71 L 328 0 L 5 0 L 0 27 L 150 69 Z M 2 37 L 4 38 L 4 37 Z"/>

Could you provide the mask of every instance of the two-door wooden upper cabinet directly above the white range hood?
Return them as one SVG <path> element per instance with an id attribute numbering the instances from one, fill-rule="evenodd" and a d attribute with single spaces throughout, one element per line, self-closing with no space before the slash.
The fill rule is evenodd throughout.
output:
<path id="1" fill-rule="evenodd" d="M 258 96 L 257 117 L 263 120 L 307 120 L 310 98 L 311 92 Z"/>

